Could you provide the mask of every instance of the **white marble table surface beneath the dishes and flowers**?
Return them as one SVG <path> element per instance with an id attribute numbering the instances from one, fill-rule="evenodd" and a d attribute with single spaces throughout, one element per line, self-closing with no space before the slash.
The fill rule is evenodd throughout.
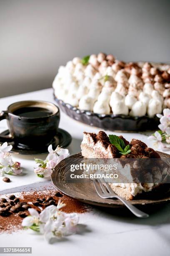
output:
<path id="1" fill-rule="evenodd" d="M 46 100 L 55 102 L 52 89 L 29 92 L 0 99 L 0 111 L 20 100 Z M 78 123 L 61 112 L 60 128 L 68 131 L 72 136 L 69 146 L 70 154 L 80 152 L 83 131 L 98 132 L 100 129 Z M 6 121 L 0 122 L 0 132 L 7 128 Z M 112 132 L 107 131 L 107 134 Z M 115 133 L 120 135 L 120 133 Z M 147 136 L 139 133 L 121 133 L 127 140 L 138 138 L 153 147 L 153 142 Z M 166 152 L 170 154 L 170 151 Z M 0 177 L 0 194 L 22 191 L 23 188 L 41 186 L 40 182 L 47 182 L 36 177 L 33 168 L 35 156 L 13 154 L 15 161 L 20 161 L 23 175 L 11 177 L 12 182 L 2 182 Z M 45 158 L 46 155 L 36 156 Z M 50 182 L 50 181 L 49 181 Z M 49 182 L 47 182 L 49 184 Z M 20 187 L 24 186 L 24 187 Z M 117 214 L 114 209 L 106 210 L 92 207 L 90 212 L 80 215 L 82 230 L 79 234 L 69 236 L 63 241 L 47 244 L 43 237 L 28 231 L 0 235 L 0 246 L 32 247 L 32 255 L 146 255 L 159 256 L 170 254 L 170 204 L 154 212 L 148 219 L 139 219 L 133 215 Z M 83 226 L 85 225 L 85 226 Z M 21 255 L 21 254 L 17 254 Z"/>

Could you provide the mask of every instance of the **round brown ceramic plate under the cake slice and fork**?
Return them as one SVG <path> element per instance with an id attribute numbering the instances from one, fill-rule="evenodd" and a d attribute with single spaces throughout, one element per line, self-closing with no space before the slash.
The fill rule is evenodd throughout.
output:
<path id="1" fill-rule="evenodd" d="M 158 152 L 160 156 L 170 157 L 170 155 Z M 52 172 L 51 179 L 55 187 L 57 187 L 60 192 L 63 194 L 80 200 L 84 203 L 88 203 L 91 205 L 98 205 L 102 207 L 123 207 L 122 202 L 120 200 L 113 200 L 113 199 L 102 199 L 97 195 L 95 187 L 92 181 L 82 181 L 82 182 L 66 182 L 67 174 L 70 172 L 70 162 L 72 164 L 76 164 L 78 161 L 83 159 L 82 154 L 75 154 L 62 160 L 57 166 L 55 170 Z M 77 170 L 76 174 L 82 174 L 82 170 Z M 131 203 L 133 205 L 139 205 L 140 207 L 148 207 L 158 204 L 163 204 L 170 202 L 170 184 L 165 184 L 165 190 L 158 191 L 158 194 L 155 192 L 154 195 L 152 194 L 142 194 L 140 199 L 132 200 Z"/>

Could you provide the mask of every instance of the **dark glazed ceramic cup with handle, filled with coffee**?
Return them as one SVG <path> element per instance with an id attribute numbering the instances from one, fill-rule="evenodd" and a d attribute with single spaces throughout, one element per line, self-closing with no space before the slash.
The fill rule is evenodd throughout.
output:
<path id="1" fill-rule="evenodd" d="M 47 110 L 45 116 L 24 117 L 17 115 L 23 108 L 41 108 Z M 0 120 L 7 119 L 10 134 L 0 136 L 0 141 L 14 141 L 29 148 L 40 148 L 41 145 L 49 145 L 60 121 L 59 108 L 50 102 L 25 100 L 11 104 L 6 111 L 0 113 Z"/>

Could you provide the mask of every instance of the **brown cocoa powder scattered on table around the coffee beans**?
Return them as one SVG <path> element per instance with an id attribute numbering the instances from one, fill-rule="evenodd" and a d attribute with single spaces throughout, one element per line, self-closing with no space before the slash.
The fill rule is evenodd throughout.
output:
<path id="1" fill-rule="evenodd" d="M 31 204 L 31 202 L 36 201 L 37 198 L 42 199 L 42 198 L 47 198 L 52 196 L 53 199 L 55 200 L 56 205 L 58 200 L 60 199 L 62 202 L 66 204 L 66 206 L 61 209 L 64 212 L 83 213 L 87 211 L 88 207 L 84 205 L 82 202 L 72 199 L 71 197 L 62 195 L 60 192 L 58 192 L 58 196 L 56 196 L 55 195 L 56 192 L 57 190 L 55 189 L 45 189 L 45 190 L 39 190 L 39 191 L 34 191 L 32 189 L 30 192 L 17 193 L 17 197 L 20 198 L 20 202 L 28 202 L 28 204 L 31 205 L 31 207 L 35 208 L 36 210 L 44 209 L 45 207 L 43 205 L 41 205 L 40 208 L 35 207 L 34 205 Z M 7 197 L 8 195 L 6 196 L 6 198 Z M 29 215 L 28 210 L 25 210 L 25 213 Z M 23 218 L 21 218 L 18 213 L 11 213 L 9 216 L 6 216 L 6 217 L 0 216 L 0 233 L 3 233 L 3 232 L 13 233 L 15 231 L 22 230 L 23 229 L 23 227 L 21 226 L 22 220 Z"/>

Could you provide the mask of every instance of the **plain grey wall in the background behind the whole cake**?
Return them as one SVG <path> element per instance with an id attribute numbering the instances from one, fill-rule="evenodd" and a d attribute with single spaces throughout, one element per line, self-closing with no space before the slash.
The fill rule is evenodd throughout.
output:
<path id="1" fill-rule="evenodd" d="M 0 97 L 51 87 L 61 64 L 100 51 L 170 61 L 170 1 L 0 0 Z"/>

